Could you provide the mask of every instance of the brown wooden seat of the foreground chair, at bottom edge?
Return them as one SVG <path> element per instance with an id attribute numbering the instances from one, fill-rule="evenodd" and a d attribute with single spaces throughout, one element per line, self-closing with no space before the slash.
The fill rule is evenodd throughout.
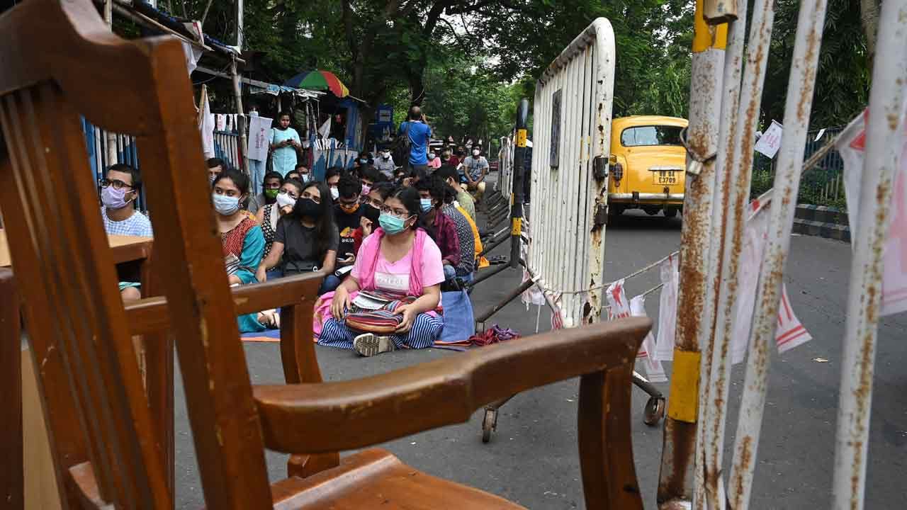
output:
<path id="1" fill-rule="evenodd" d="M 271 485 L 275 510 L 515 510 L 501 497 L 426 475 L 380 448 L 341 459 L 317 475 Z"/>

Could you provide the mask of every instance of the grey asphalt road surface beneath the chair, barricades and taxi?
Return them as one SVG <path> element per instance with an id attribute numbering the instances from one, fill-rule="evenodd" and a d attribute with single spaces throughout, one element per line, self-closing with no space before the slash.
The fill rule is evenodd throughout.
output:
<path id="1" fill-rule="evenodd" d="M 606 237 L 605 277 L 612 280 L 658 260 L 680 241 L 680 219 L 628 212 L 610 225 Z M 499 248 L 501 253 L 505 248 Z M 850 245 L 834 240 L 795 237 L 786 270 L 786 284 L 795 313 L 814 340 L 784 357 L 775 356 L 769 380 L 766 418 L 758 452 L 753 508 L 819 508 L 831 501 L 834 423 L 840 379 L 844 309 L 850 267 Z M 520 274 L 506 270 L 473 292 L 483 309 L 520 283 Z M 628 280 L 628 296 L 658 283 L 658 271 Z M 658 296 L 646 304 L 658 317 Z M 536 309 L 514 301 L 491 322 L 533 333 Z M 541 330 L 550 316 L 541 311 Z M 873 419 L 866 494 L 867 509 L 904 505 L 907 456 L 907 316 L 884 318 L 879 332 L 873 392 Z M 280 383 L 282 369 L 276 344 L 246 345 L 252 382 Z M 429 359 L 457 356 L 439 349 L 398 351 L 375 358 L 317 348 L 327 380 L 361 378 Z M 815 358 L 827 359 L 819 362 Z M 668 375 L 670 364 L 666 364 Z M 733 435 L 743 364 L 733 372 L 727 427 L 726 458 Z M 177 501 L 180 508 L 200 508 L 203 498 L 194 461 L 185 401 L 177 382 Z M 668 384 L 658 385 L 665 393 Z M 483 412 L 463 425 L 444 427 L 383 445 L 404 462 L 434 476 L 472 485 L 512 499 L 529 508 L 584 508 L 577 451 L 578 380 L 565 381 L 514 397 L 502 407 L 492 442 L 481 442 Z M 636 471 L 646 506 L 655 508 L 662 433 L 642 422 L 647 397 L 634 389 L 633 448 Z M 403 418 L 405 419 L 405 418 Z M 305 427 L 305 424 L 300 424 Z M 343 431 L 338 431 L 343 433 Z M 286 456 L 268 455 L 272 480 L 286 474 Z"/>

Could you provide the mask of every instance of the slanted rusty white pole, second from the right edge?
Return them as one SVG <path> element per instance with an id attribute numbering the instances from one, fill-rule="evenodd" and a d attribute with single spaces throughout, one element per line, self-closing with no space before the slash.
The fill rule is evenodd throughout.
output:
<path id="1" fill-rule="evenodd" d="M 756 312 L 749 338 L 746 379 L 737 420 L 734 460 L 728 479 L 727 501 L 746 510 L 752 490 L 759 432 L 766 404 L 769 348 L 774 344 L 781 284 L 794 222 L 796 195 L 805 169 L 806 131 L 813 107 L 815 74 L 822 41 L 826 0 L 800 5 L 794 59 L 787 84 L 785 132 L 778 156 L 775 186 L 769 206 L 766 253 L 756 295 Z M 733 327 L 728 331 L 733 331 Z M 726 331 L 727 338 L 730 337 Z M 727 393 L 727 382 L 724 385 Z"/>

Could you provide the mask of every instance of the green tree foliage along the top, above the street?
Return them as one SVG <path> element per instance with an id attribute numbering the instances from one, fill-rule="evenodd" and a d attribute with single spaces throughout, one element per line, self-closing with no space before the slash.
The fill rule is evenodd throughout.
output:
<path id="1" fill-rule="evenodd" d="M 160 5 L 191 19 L 207 10 L 205 32 L 233 40 L 233 2 Z M 783 118 L 799 3 L 775 5 L 766 123 Z M 816 127 L 846 123 L 868 99 L 866 5 L 877 2 L 829 0 Z M 264 81 L 334 72 L 366 101 L 366 120 L 378 103 L 394 103 L 401 114 L 422 103 L 439 132 L 488 138 L 509 131 L 519 99 L 532 100 L 535 79 L 599 16 L 610 19 L 617 46 L 614 115 L 686 116 L 689 0 L 245 0 L 244 49 L 262 53 L 251 74 Z"/>

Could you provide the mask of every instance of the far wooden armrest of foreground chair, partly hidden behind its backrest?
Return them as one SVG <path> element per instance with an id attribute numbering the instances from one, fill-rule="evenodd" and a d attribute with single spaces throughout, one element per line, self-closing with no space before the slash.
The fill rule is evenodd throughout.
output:
<path id="1" fill-rule="evenodd" d="M 234 287 L 234 311 L 237 315 L 244 315 L 297 305 L 309 296 L 317 299 L 318 286 L 324 277 L 324 273 L 319 271 Z M 161 296 L 132 301 L 126 305 L 126 317 L 132 335 L 158 333 L 171 327 L 167 299 Z"/>

